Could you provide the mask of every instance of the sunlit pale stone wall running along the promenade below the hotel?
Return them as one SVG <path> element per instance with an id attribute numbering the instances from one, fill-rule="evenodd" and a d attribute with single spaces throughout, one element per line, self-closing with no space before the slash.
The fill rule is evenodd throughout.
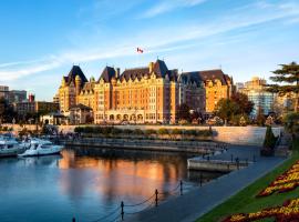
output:
<path id="1" fill-rule="evenodd" d="M 10 124 L 11 127 L 11 124 Z M 14 129 L 22 129 L 14 124 Z M 35 125 L 25 125 L 29 130 L 34 130 Z M 73 132 L 75 125 L 59 125 L 59 131 Z M 115 125 L 121 129 L 154 129 L 161 128 L 166 129 L 182 129 L 182 130 L 207 130 L 208 127 L 200 125 Z M 244 145 L 262 145 L 266 128 L 261 127 L 212 127 L 214 132 L 214 140 L 218 142 L 226 142 L 231 144 L 244 144 Z M 272 128 L 275 135 L 279 135 L 283 128 Z"/>

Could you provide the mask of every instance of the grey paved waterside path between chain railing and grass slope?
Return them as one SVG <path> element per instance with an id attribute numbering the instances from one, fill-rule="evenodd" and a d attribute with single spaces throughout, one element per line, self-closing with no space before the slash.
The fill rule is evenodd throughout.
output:
<path id="1" fill-rule="evenodd" d="M 234 149 L 239 149 L 234 147 Z M 249 153 L 246 152 L 239 154 Z M 251 148 L 257 152 L 257 148 Z M 244 150 L 245 151 L 245 150 Z M 258 153 L 257 153 L 258 154 Z M 225 159 L 220 154 L 221 159 Z M 229 152 L 225 155 L 230 159 Z M 216 155 L 214 157 L 216 158 Z M 223 175 L 217 180 L 204 184 L 202 188 L 195 188 L 188 193 L 169 199 L 167 202 L 161 203 L 158 208 L 152 208 L 143 211 L 135 216 L 125 215 L 125 221 L 130 222 L 190 222 L 198 219 L 216 205 L 220 204 L 229 196 L 236 194 L 248 184 L 256 181 L 258 178 L 270 172 L 275 167 L 281 164 L 286 159 L 282 158 L 260 158 L 257 157 L 257 162 L 249 164 L 239 171 L 234 171 Z"/>

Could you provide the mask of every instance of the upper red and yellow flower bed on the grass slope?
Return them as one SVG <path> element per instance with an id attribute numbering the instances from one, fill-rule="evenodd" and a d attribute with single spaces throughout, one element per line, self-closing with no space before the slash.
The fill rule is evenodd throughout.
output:
<path id="1" fill-rule="evenodd" d="M 299 161 L 289 170 L 279 175 L 272 183 L 262 190 L 257 196 L 268 196 L 275 192 L 288 192 L 299 186 Z"/>

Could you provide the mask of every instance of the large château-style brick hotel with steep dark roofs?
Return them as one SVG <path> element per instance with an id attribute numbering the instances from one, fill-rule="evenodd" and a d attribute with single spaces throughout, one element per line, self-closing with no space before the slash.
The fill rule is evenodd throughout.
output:
<path id="1" fill-rule="evenodd" d="M 71 108 L 83 104 L 92 109 L 95 123 L 156 123 L 175 122 L 182 103 L 202 113 L 212 112 L 221 97 L 230 97 L 231 85 L 231 78 L 221 70 L 178 73 L 156 60 L 122 73 L 105 67 L 97 80 L 90 81 L 73 65 L 62 78 L 58 94 L 60 110 L 66 115 Z"/>

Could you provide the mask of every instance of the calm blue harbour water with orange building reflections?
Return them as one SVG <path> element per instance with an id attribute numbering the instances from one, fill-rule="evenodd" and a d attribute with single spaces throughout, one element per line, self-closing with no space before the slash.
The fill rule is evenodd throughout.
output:
<path id="1" fill-rule="evenodd" d="M 121 201 L 141 202 L 179 180 L 198 185 L 177 153 L 65 149 L 61 155 L 0 159 L 0 221 L 95 221 Z M 219 176 L 204 173 L 206 180 Z"/>

